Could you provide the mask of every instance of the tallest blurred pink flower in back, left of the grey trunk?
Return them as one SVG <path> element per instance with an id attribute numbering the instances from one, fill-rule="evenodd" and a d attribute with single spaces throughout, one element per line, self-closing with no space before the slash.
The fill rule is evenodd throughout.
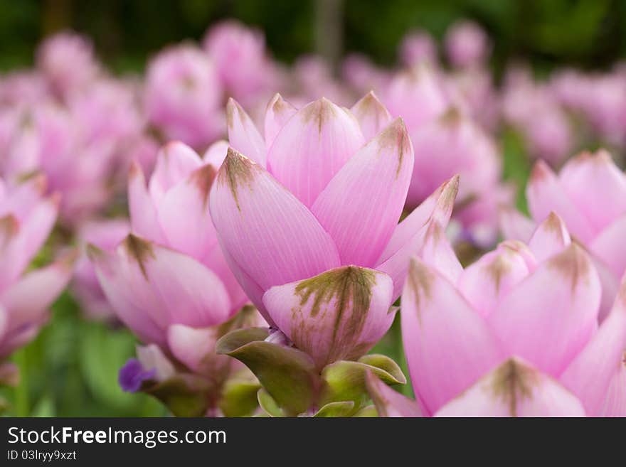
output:
<path id="1" fill-rule="evenodd" d="M 273 87 L 275 70 L 267 58 L 262 31 L 223 21 L 206 33 L 203 48 L 215 63 L 226 95 L 252 105 Z"/>

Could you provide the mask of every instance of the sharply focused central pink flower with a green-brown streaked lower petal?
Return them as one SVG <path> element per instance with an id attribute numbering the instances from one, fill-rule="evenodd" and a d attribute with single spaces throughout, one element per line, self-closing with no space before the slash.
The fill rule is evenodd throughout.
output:
<path id="1" fill-rule="evenodd" d="M 398 225 L 413 147 L 373 94 L 350 110 L 276 95 L 265 139 L 233 100 L 227 112 L 232 148 L 209 204 L 230 268 L 317 367 L 358 358 L 391 326 L 408 257 L 430 218 L 447 223 L 457 178 Z"/>

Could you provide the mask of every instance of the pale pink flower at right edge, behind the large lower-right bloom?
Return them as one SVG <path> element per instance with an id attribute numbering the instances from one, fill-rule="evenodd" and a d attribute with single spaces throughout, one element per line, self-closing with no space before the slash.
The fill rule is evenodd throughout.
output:
<path id="1" fill-rule="evenodd" d="M 527 241 L 535 225 L 551 211 L 593 258 L 603 283 L 600 317 L 610 310 L 626 272 L 626 175 L 607 151 L 583 152 L 558 173 L 538 161 L 526 186 L 532 220 L 511 210 L 501 218 L 504 237 Z"/>

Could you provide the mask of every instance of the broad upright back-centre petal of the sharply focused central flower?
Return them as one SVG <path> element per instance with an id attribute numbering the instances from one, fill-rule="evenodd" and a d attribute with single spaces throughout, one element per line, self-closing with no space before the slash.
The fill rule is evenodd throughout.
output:
<path id="1" fill-rule="evenodd" d="M 322 97 L 299 109 L 282 127 L 268 151 L 267 168 L 311 206 L 364 142 L 356 119 Z"/>

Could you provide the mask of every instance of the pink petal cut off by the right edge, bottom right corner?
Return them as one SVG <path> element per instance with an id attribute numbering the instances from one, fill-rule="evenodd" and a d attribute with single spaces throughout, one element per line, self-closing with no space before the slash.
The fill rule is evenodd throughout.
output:
<path id="1" fill-rule="evenodd" d="M 625 350 L 626 282 L 598 332 L 560 378 L 583 402 L 588 415 L 600 415 L 612 378 L 624 365 Z"/>

